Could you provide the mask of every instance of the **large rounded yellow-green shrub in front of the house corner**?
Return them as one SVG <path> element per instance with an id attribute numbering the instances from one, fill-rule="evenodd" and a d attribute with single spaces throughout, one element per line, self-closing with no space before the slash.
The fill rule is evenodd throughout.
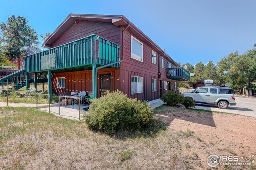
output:
<path id="1" fill-rule="evenodd" d="M 83 115 L 90 129 L 102 129 L 108 134 L 119 130 L 134 131 L 145 127 L 153 115 L 146 102 L 128 98 L 120 91 L 91 100 L 87 114 Z"/>

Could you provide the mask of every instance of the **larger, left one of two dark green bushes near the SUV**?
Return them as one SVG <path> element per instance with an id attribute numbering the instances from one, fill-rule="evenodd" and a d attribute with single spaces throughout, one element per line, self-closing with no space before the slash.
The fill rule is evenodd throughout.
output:
<path id="1" fill-rule="evenodd" d="M 184 96 L 179 95 L 178 92 L 169 91 L 162 95 L 161 100 L 168 106 L 176 106 L 177 104 L 183 104 Z"/>

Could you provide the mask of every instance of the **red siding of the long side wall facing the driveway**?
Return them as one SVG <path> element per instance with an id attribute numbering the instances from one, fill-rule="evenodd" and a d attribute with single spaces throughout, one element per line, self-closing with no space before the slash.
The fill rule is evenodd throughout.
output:
<path id="1" fill-rule="evenodd" d="M 160 81 L 162 80 L 162 94 L 166 93 L 164 90 L 164 80 L 171 83 L 171 89 L 174 88 L 174 82 L 178 86 L 176 80 L 170 80 L 166 78 L 166 68 L 167 61 L 174 65 L 167 57 L 164 58 L 164 68 L 160 67 L 161 78 L 158 79 L 158 53 L 156 53 L 157 59 L 156 64 L 152 63 L 152 50 L 146 43 L 143 43 L 143 62 L 131 58 L 131 36 L 138 39 L 136 36 L 132 35 L 129 31 L 124 31 L 123 35 L 123 55 L 124 61 L 122 61 L 120 66 L 120 79 L 121 79 L 121 90 L 131 98 L 137 98 L 138 100 L 155 100 L 160 97 Z M 131 93 L 131 76 L 143 77 L 143 92 L 142 93 Z M 152 78 L 156 79 L 156 92 L 152 92 Z"/>

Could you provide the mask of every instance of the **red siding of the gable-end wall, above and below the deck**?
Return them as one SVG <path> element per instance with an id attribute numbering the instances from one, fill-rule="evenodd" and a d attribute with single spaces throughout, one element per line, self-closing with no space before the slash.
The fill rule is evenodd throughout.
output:
<path id="1" fill-rule="evenodd" d="M 65 43 L 75 41 L 82 37 L 91 34 L 99 35 L 114 43 L 120 45 L 121 28 L 109 22 L 98 21 L 78 21 L 78 24 L 73 24 L 59 39 L 57 39 L 53 47 L 63 45 Z M 108 74 L 112 76 L 111 86 L 112 90 L 120 89 L 120 71 L 119 68 L 104 68 L 98 71 L 98 80 L 100 74 Z M 57 88 L 57 77 L 66 78 L 66 88 Z M 87 91 L 92 92 L 92 70 L 84 70 L 78 72 L 63 72 L 56 73 L 52 78 L 52 89 L 57 94 L 70 94 L 72 91 Z M 98 97 L 99 97 L 100 83 L 98 81 Z"/>

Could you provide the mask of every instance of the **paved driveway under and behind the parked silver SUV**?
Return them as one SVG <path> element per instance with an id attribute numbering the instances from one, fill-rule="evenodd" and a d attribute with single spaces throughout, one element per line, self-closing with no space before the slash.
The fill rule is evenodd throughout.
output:
<path id="1" fill-rule="evenodd" d="M 197 104 L 196 109 L 210 111 L 221 111 L 225 113 L 235 113 L 256 117 L 256 98 L 245 98 L 236 96 L 236 106 L 229 106 L 227 109 L 220 109 L 218 106 Z"/>

